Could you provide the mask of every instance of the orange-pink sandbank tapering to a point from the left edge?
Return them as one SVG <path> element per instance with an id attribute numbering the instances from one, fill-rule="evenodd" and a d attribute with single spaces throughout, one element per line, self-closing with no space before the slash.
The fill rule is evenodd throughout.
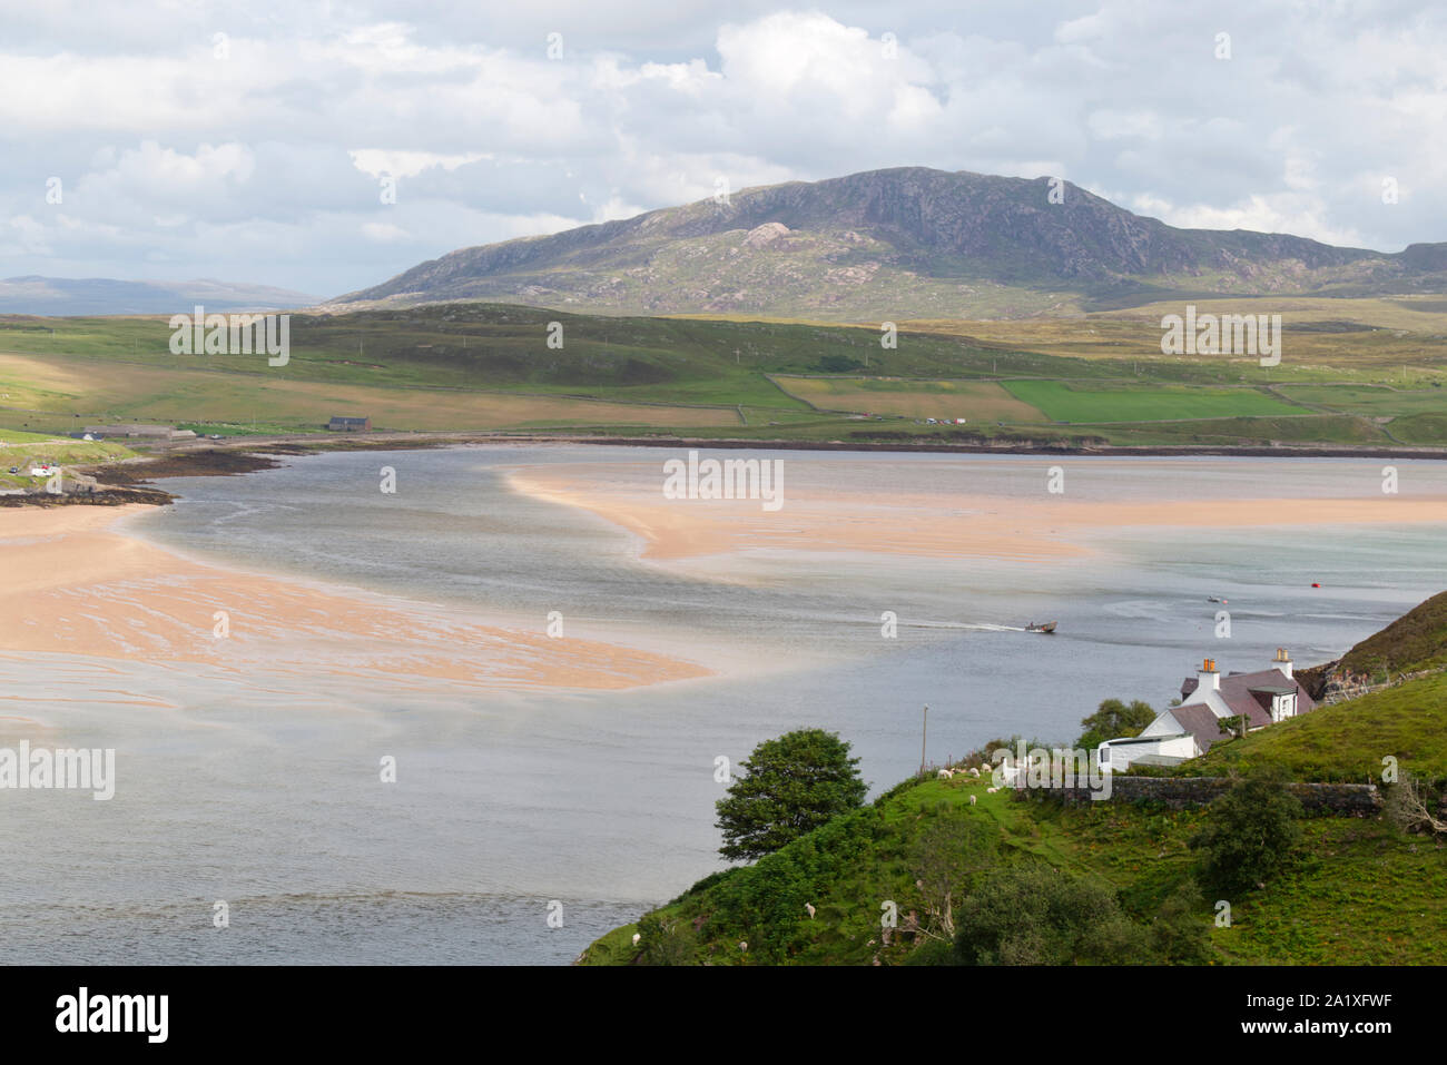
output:
<path id="1" fill-rule="evenodd" d="M 0 511 L 0 653 L 326 671 L 405 684 L 625 689 L 710 670 L 463 612 L 197 563 L 136 537 L 129 506 Z M 224 624 L 224 635 L 218 627 Z M 564 629 L 566 631 L 566 629 Z"/>

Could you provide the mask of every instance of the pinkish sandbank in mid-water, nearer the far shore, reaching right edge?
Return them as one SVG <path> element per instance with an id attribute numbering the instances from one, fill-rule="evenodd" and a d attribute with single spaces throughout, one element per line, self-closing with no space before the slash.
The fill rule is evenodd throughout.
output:
<path id="1" fill-rule="evenodd" d="M 1117 528 L 1447 524 L 1444 495 L 1204 499 L 1185 478 L 1178 498 L 1120 502 L 1043 491 L 1033 498 L 990 496 L 949 486 L 881 498 L 793 482 L 786 505 L 774 512 L 748 499 L 666 499 L 661 480 L 655 463 L 509 473 L 518 492 L 582 506 L 634 532 L 641 557 L 658 561 L 774 548 L 1049 563 L 1092 554 L 1092 538 Z"/>

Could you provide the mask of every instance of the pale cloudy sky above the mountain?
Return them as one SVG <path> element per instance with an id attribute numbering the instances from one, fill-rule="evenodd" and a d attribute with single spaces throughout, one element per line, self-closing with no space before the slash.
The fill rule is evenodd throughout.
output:
<path id="1" fill-rule="evenodd" d="M 1447 240 L 1447 6 L 0 0 L 0 278 L 331 297 L 884 166 L 1174 226 Z"/>

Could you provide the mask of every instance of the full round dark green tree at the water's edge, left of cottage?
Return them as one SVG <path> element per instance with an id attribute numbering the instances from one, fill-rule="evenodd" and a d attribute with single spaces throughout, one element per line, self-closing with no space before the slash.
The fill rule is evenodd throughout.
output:
<path id="1" fill-rule="evenodd" d="M 831 818 L 864 805 L 868 786 L 833 732 L 810 728 L 765 739 L 719 799 L 719 854 L 745 861 L 773 854 Z"/>

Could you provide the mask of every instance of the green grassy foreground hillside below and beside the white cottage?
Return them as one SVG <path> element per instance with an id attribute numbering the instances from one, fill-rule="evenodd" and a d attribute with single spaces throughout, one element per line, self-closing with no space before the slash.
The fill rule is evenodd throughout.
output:
<path id="1" fill-rule="evenodd" d="M 1405 666 L 1443 661 L 1444 603 L 1447 593 L 1434 596 L 1359 650 L 1376 648 Z M 1153 773 L 1382 781 L 1386 755 L 1402 780 L 1415 777 L 1430 794 L 1441 794 L 1447 673 L 1318 708 Z M 1396 797 L 1392 780 L 1382 784 L 1385 809 Z M 1298 812 L 1292 823 L 1299 839 L 1285 871 L 1230 893 L 1231 922 L 1221 926 L 1214 920 L 1221 896 L 1192 893 L 1208 878 L 1191 842 L 1213 816 L 1214 807 L 1065 806 L 1009 789 L 991 794 L 987 776 L 916 777 L 754 865 L 706 877 L 637 925 L 609 932 L 580 964 L 948 964 L 939 915 L 984 912 L 978 900 L 1030 865 L 1113 896 L 1124 925 L 1150 943 L 1149 956 L 1132 961 L 1447 964 L 1447 848 L 1440 836 L 1408 833 L 1388 813 Z M 941 880 L 945 867 L 949 877 Z M 881 907 L 890 904 L 899 926 L 886 942 Z M 1104 955 L 1094 961 L 1108 964 Z"/>

